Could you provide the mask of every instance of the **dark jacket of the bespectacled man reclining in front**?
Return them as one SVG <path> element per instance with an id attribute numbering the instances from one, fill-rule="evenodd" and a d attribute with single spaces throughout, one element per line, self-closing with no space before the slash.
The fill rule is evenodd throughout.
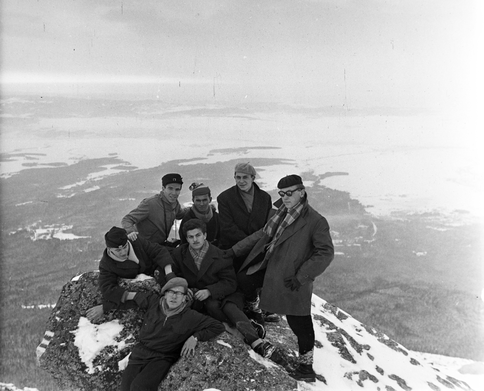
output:
<path id="1" fill-rule="evenodd" d="M 138 343 L 133 348 L 129 363 L 142 363 L 167 356 L 176 360 L 190 337 L 207 341 L 225 331 L 218 320 L 204 316 L 187 305 L 179 314 L 166 317 L 156 293 L 138 292 L 134 300 L 121 303 L 120 309 L 139 307 L 146 310 L 139 331 Z M 133 361 L 133 362 L 132 362 Z"/>

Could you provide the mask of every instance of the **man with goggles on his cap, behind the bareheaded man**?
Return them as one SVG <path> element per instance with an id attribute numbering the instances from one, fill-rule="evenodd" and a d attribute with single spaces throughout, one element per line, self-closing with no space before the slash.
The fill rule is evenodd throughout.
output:
<path id="1" fill-rule="evenodd" d="M 200 219 L 207 225 L 207 241 L 217 246 L 220 239 L 220 220 L 218 213 L 211 205 L 212 194 L 210 188 L 203 183 L 194 182 L 190 185 L 190 190 L 192 191 L 193 205 L 180 223 L 179 235 L 181 244 L 188 243 L 183 234 L 183 225 L 188 220 Z"/>

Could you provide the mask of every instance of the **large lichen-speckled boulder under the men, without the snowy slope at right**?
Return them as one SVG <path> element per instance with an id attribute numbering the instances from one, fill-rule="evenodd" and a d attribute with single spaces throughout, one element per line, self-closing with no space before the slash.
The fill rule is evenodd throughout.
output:
<path id="1" fill-rule="evenodd" d="M 87 310 L 102 302 L 97 278 L 98 272 L 84 273 L 62 288 L 47 321 L 44 339 L 37 347 L 39 365 L 63 391 L 118 390 L 122 369 L 138 337 L 142 310 L 112 311 L 96 322 L 87 320 Z M 119 284 L 138 291 L 160 292 L 152 278 L 120 279 Z M 177 361 L 160 390 L 297 388 L 280 365 L 255 356 L 241 339 L 224 332 L 210 341 L 199 342 L 195 357 Z"/>

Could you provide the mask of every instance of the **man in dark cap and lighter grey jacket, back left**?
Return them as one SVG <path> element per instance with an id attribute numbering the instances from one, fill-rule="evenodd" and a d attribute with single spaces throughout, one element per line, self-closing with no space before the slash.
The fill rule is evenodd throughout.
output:
<path id="1" fill-rule="evenodd" d="M 141 201 L 122 218 L 121 225 L 131 241 L 135 241 L 139 235 L 148 241 L 175 247 L 175 243 L 167 241 L 171 227 L 176 219 L 185 217 L 190 207 L 181 208 L 178 202 L 183 184 L 180 174 L 166 174 L 161 180 L 160 194 Z"/>

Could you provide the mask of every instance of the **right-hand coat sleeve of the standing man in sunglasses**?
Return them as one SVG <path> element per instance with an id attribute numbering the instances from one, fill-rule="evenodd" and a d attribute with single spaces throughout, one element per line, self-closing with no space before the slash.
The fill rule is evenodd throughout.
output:
<path id="1" fill-rule="evenodd" d="M 301 284 L 314 281 L 319 274 L 326 270 L 334 258 L 333 241 L 330 227 L 324 217 L 319 219 L 313 230 L 313 255 L 304 262 L 296 273 Z"/>

